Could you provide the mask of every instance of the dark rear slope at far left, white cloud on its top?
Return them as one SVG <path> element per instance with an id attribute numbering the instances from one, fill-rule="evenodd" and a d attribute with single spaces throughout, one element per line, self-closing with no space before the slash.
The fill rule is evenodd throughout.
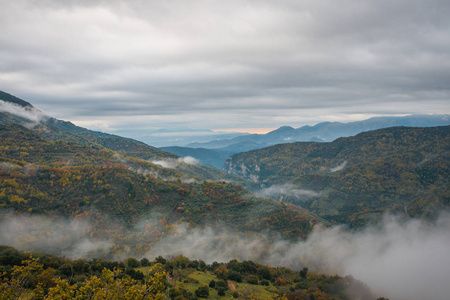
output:
<path id="1" fill-rule="evenodd" d="M 216 168 L 185 163 L 178 155 L 156 149 L 142 142 L 117 135 L 92 131 L 45 115 L 30 103 L 0 91 L 0 124 L 20 124 L 45 139 L 71 141 L 97 149 L 109 149 L 120 155 L 160 162 L 200 180 L 230 180 L 243 183 Z"/>

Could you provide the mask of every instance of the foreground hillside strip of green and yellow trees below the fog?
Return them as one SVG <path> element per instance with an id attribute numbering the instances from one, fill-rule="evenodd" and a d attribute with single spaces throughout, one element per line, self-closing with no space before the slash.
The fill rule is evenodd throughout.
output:
<path id="1" fill-rule="evenodd" d="M 0 299 L 376 299 L 351 276 L 184 256 L 71 260 L 0 246 Z M 384 299 L 384 298 L 378 298 Z"/>

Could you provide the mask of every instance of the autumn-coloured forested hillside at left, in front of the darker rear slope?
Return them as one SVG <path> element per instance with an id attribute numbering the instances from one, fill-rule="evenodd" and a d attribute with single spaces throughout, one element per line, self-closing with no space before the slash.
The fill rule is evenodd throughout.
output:
<path id="1" fill-rule="evenodd" d="M 108 149 L 47 140 L 21 125 L 0 125 L 0 140 L 3 212 L 86 222 L 89 226 L 80 234 L 112 241 L 110 252 L 101 253 L 105 257 L 146 253 L 182 224 L 294 239 L 311 230 L 313 219 L 301 210 L 229 182 L 203 181 L 201 174 L 188 175 Z M 37 239 L 48 234 L 45 226 L 31 227 Z M 54 249 L 57 253 L 76 243 L 64 238 Z M 20 241 L 24 249 L 39 246 L 25 237 L 11 240 Z"/>

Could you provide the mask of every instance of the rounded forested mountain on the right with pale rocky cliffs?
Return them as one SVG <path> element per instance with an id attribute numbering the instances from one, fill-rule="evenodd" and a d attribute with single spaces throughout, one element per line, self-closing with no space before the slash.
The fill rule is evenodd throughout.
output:
<path id="1" fill-rule="evenodd" d="M 433 216 L 450 205 L 450 126 L 279 144 L 234 154 L 224 170 L 329 221 L 361 225 L 386 211 Z"/>

